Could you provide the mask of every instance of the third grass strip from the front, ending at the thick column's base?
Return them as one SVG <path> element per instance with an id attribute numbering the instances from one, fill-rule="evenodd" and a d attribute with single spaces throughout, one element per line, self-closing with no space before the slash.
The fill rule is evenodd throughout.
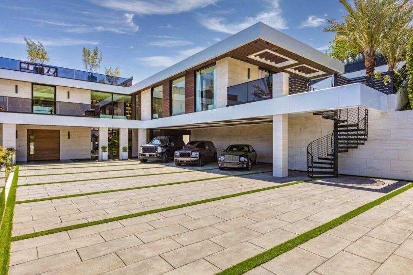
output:
<path id="1" fill-rule="evenodd" d="M 63 196 L 56 196 L 56 197 L 46 197 L 46 198 L 38 198 L 38 199 L 28 199 L 28 200 L 16 201 L 16 203 L 17 203 L 17 204 L 20 204 L 20 203 L 29 203 L 29 202 L 37 202 L 37 201 L 61 199 L 61 198 L 71 198 L 71 197 L 88 196 L 88 195 L 103 194 L 103 193 L 113 193 L 113 192 L 129 191 L 129 190 L 152 188 L 152 187 L 167 186 L 167 185 L 175 185 L 175 184 L 182 184 L 182 183 L 191 183 L 191 182 L 205 181 L 205 180 L 211 180 L 211 179 L 230 178 L 230 177 L 242 177 L 242 176 L 262 174 L 262 173 L 269 173 L 269 172 L 272 172 L 272 171 L 260 171 L 260 172 L 244 173 L 244 174 L 237 174 L 237 175 L 224 175 L 224 176 L 213 177 L 213 178 L 199 178 L 199 179 L 191 179 L 191 180 L 184 180 L 184 181 L 175 181 L 175 182 L 168 182 L 168 183 L 160 183 L 160 184 L 154 184 L 154 185 L 146 185 L 146 186 L 128 187 L 128 188 L 122 188 L 122 189 L 111 189 L 111 190 L 104 190 L 104 191 L 96 191 L 96 192 L 82 193 L 82 194 L 71 194 L 71 195 L 63 195 Z"/>

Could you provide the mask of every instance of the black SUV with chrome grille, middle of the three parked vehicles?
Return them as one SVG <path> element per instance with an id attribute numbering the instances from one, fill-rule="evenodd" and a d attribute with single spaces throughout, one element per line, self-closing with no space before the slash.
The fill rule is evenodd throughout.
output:
<path id="1" fill-rule="evenodd" d="M 210 141 L 190 141 L 187 145 L 176 151 L 174 155 L 175 165 L 197 164 L 204 166 L 206 161 L 217 160 L 217 148 Z"/>

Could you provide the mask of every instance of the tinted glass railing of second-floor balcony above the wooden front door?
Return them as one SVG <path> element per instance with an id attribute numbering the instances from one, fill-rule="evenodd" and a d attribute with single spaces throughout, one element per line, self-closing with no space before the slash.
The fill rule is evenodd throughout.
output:
<path id="1" fill-rule="evenodd" d="M 99 117 L 99 106 L 21 97 L 0 97 L 0 112 Z"/>

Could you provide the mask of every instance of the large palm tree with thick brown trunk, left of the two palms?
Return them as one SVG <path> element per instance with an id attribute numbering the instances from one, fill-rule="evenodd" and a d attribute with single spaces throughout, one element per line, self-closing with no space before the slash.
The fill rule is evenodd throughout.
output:
<path id="1" fill-rule="evenodd" d="M 374 73 L 376 51 L 395 26 L 411 16 L 410 0 L 340 0 L 347 14 L 343 22 L 327 20 L 325 32 L 336 32 L 339 39 L 351 41 L 365 56 L 366 76 Z M 410 11 L 410 12 L 409 12 Z"/>

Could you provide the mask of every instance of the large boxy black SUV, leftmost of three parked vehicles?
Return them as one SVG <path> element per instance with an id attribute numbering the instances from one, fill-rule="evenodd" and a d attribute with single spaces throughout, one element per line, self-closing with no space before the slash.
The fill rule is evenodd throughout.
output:
<path id="1" fill-rule="evenodd" d="M 155 137 L 150 143 L 140 146 L 139 160 L 147 162 L 151 160 L 161 160 L 169 162 L 173 157 L 173 152 L 185 146 L 182 139 L 177 137 Z"/>

